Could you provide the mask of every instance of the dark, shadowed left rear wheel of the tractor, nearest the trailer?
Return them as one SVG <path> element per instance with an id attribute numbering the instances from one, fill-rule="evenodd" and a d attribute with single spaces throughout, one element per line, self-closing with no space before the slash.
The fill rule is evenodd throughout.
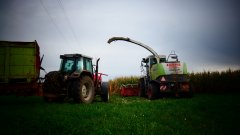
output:
<path id="1" fill-rule="evenodd" d="M 46 102 L 62 101 L 64 97 L 60 96 L 63 90 L 62 74 L 59 71 L 52 71 L 46 74 L 43 83 L 43 99 Z"/>

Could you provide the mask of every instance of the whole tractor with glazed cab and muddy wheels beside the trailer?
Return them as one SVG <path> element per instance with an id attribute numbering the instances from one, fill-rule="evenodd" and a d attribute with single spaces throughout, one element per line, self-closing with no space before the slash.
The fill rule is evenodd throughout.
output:
<path id="1" fill-rule="evenodd" d="M 68 101 L 91 103 L 96 95 L 102 101 L 109 100 L 108 83 L 102 82 L 102 73 L 98 73 L 98 62 L 92 64 L 92 58 L 82 54 L 60 55 L 59 71 L 45 75 L 43 98 L 45 101 Z"/>

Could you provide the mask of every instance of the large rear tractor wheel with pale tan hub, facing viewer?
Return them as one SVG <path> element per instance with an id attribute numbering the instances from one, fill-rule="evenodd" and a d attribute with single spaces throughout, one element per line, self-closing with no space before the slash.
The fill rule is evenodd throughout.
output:
<path id="1" fill-rule="evenodd" d="M 92 78 L 83 76 L 77 79 L 73 84 L 74 100 L 89 104 L 95 96 L 94 84 Z"/>

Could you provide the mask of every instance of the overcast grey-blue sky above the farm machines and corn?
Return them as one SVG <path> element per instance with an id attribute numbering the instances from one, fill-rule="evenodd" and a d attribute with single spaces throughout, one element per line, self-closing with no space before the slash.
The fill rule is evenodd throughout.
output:
<path id="1" fill-rule="evenodd" d="M 150 52 L 171 50 L 189 72 L 240 68 L 240 2 L 237 0 L 0 0 L 0 40 L 34 41 L 44 54 L 43 67 L 58 70 L 60 54 L 101 58 L 100 71 L 140 75 Z"/>

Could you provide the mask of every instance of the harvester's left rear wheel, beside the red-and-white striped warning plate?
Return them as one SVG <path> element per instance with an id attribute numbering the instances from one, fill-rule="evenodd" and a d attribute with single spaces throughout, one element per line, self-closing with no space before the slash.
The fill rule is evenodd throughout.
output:
<path id="1" fill-rule="evenodd" d="M 148 88 L 148 92 L 147 92 L 148 99 L 150 99 L 150 100 L 156 99 L 156 98 L 159 97 L 159 95 L 160 95 L 159 84 L 150 83 L 149 88 Z"/>

